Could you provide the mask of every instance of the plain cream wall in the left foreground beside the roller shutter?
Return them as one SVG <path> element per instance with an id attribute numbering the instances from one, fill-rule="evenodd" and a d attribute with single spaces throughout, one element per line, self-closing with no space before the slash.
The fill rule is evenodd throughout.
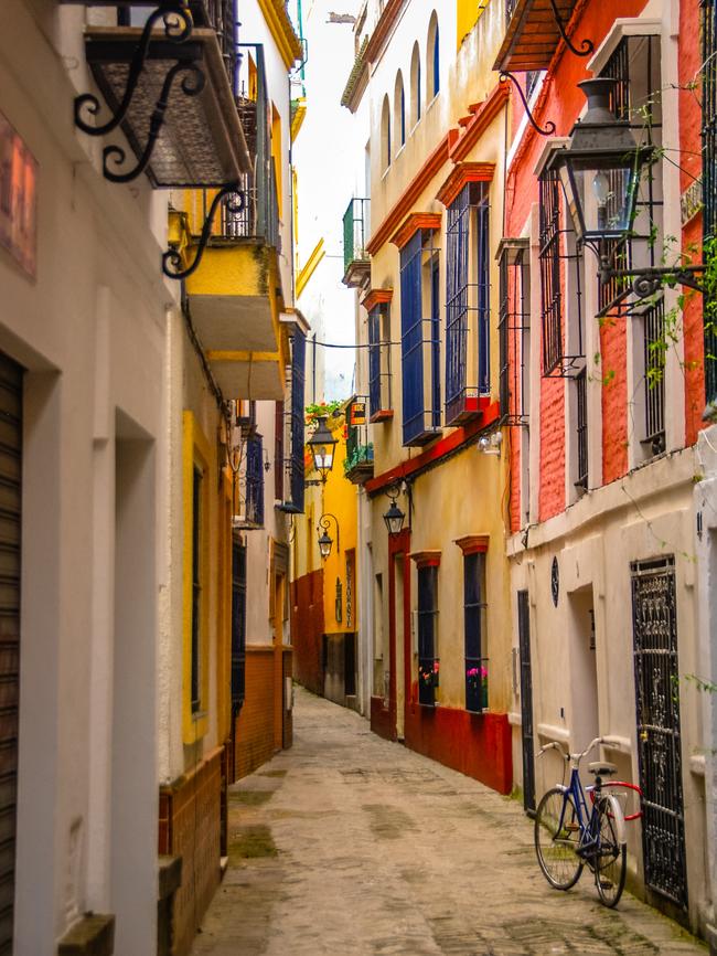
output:
<path id="1" fill-rule="evenodd" d="M 87 910 L 116 913 L 117 952 L 157 937 L 161 385 L 176 289 L 158 267 L 165 196 L 143 178 L 106 182 L 100 144 L 73 126 L 74 96 L 92 86 L 84 18 L 8 0 L 0 31 L 0 110 L 39 162 L 36 278 L 0 252 L 0 348 L 28 369 L 20 956 L 55 952 Z"/>

